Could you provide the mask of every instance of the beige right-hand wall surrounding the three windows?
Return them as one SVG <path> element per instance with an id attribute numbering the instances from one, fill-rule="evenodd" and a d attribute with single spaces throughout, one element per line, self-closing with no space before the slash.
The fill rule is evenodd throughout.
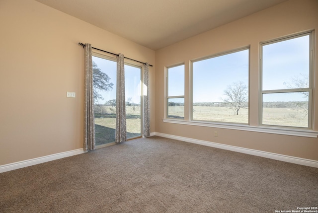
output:
<path id="1" fill-rule="evenodd" d="M 318 29 L 318 0 L 290 0 L 156 51 L 156 132 L 208 142 L 318 160 L 318 139 L 164 123 L 164 67 L 185 64 L 185 111 L 189 102 L 189 61 L 250 46 L 250 125 L 258 124 L 259 43 Z M 318 62 L 317 32 L 315 62 Z M 318 85 L 315 70 L 315 85 Z M 318 92 L 314 92 L 318 106 Z M 188 120 L 185 113 L 185 120 Z M 315 111 L 318 131 L 318 110 Z M 214 137 L 214 131 L 219 136 Z"/>

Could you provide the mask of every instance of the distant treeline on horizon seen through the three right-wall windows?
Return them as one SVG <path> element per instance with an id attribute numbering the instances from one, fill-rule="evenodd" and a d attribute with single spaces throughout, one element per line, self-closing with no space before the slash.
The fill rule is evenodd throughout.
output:
<path id="1" fill-rule="evenodd" d="M 168 106 L 184 106 L 184 103 L 169 102 Z M 225 102 L 199 102 L 193 103 L 193 106 L 210 106 L 210 107 L 227 107 Z M 248 106 L 248 103 L 245 103 Z M 263 107 L 266 108 L 295 108 L 308 106 L 308 101 L 273 101 L 263 102 Z"/>

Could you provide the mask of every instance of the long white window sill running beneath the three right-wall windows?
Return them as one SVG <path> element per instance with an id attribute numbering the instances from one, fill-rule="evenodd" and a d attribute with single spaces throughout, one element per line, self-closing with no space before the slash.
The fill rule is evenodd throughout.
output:
<path id="1" fill-rule="evenodd" d="M 178 119 L 162 119 L 164 123 L 172 124 L 183 124 L 183 125 L 192 125 L 192 126 L 202 126 L 202 127 L 214 127 L 222 129 L 231 129 L 231 130 L 242 130 L 250 132 L 259 132 L 259 133 L 271 133 L 279 135 L 288 135 L 288 136 L 300 136 L 308 138 L 317 138 L 318 132 L 313 130 L 300 130 L 300 129 L 287 129 L 287 128 L 275 128 L 275 127 L 253 127 L 243 124 L 219 124 L 211 123 L 204 121 L 184 121 Z"/>

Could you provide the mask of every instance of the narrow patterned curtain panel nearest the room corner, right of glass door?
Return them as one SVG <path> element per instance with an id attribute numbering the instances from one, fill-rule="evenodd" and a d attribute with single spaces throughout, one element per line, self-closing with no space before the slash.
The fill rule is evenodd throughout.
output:
<path id="1" fill-rule="evenodd" d="M 143 137 L 150 136 L 150 122 L 149 122 L 149 88 L 148 88 L 148 71 L 149 65 L 144 65 L 144 126 L 143 126 Z"/>

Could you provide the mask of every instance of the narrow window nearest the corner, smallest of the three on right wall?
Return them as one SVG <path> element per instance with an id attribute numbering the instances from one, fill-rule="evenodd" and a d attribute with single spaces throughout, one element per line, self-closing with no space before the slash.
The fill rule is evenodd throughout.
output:
<path id="1" fill-rule="evenodd" d="M 167 68 L 167 118 L 184 119 L 184 65 Z"/>

